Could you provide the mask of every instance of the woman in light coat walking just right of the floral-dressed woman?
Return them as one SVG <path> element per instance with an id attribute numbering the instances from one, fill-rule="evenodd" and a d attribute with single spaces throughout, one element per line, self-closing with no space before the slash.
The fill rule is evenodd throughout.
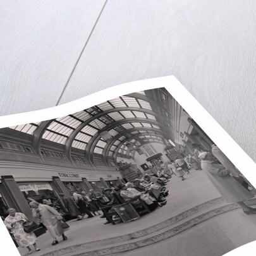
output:
<path id="1" fill-rule="evenodd" d="M 32 208 L 33 217 L 37 218 L 39 222 L 42 222 L 46 226 L 47 230 L 51 234 L 53 241 L 52 245 L 57 245 L 59 241 L 57 236 L 62 236 L 63 241 L 68 238 L 64 235 L 64 230 L 61 228 L 61 214 L 53 209 L 49 205 L 39 204 L 38 202 L 30 202 Z"/>

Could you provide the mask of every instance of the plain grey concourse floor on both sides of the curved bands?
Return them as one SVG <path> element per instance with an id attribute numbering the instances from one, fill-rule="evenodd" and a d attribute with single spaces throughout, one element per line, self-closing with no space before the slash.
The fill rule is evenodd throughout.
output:
<path id="1" fill-rule="evenodd" d="M 63 247 L 68 247 L 70 245 L 77 245 L 79 243 L 85 243 L 88 241 L 102 240 L 104 238 L 115 237 L 119 235 L 124 235 L 126 233 L 138 231 L 143 228 L 147 228 L 149 226 L 157 224 L 166 219 L 169 219 L 170 217 L 176 216 L 177 214 L 180 214 L 181 212 L 190 209 L 195 205 L 202 204 L 203 202 L 220 196 L 217 190 L 212 186 L 208 178 L 205 176 L 203 171 L 193 171 L 192 174 L 187 176 L 187 180 L 185 181 L 181 181 L 178 177 L 173 177 L 171 181 L 169 181 L 167 187 L 169 189 L 169 195 L 167 197 L 168 204 L 165 205 L 164 207 L 156 209 L 154 212 L 147 214 L 146 216 L 141 217 L 137 221 L 129 223 L 120 223 L 114 226 L 111 224 L 104 225 L 103 223 L 105 222 L 105 219 L 101 219 L 99 218 L 99 216 L 94 217 L 92 219 L 84 219 L 82 221 L 69 221 L 68 223 L 70 224 L 71 228 L 68 231 L 66 231 L 66 235 L 68 236 L 67 241 L 63 242 L 59 240 L 61 241 L 61 243 L 59 243 L 55 247 L 52 247 L 51 236 L 47 232 L 46 234 L 39 237 L 38 245 L 42 250 L 38 253 L 33 253 L 33 255 L 37 256 L 46 252 L 51 252 L 52 250 L 58 250 Z M 232 223 L 233 219 L 237 219 L 238 216 L 241 217 L 242 221 L 236 222 L 234 225 Z M 240 245 L 243 245 L 244 243 L 247 243 L 248 241 L 252 241 L 255 239 L 255 216 L 245 216 L 245 214 L 243 214 L 241 210 L 238 209 L 228 212 L 226 214 L 222 214 L 221 216 L 214 217 L 213 219 L 214 221 L 206 221 L 197 226 L 197 228 L 199 226 L 202 226 L 202 229 L 199 231 L 199 235 L 197 237 L 192 235 L 192 231 L 188 230 L 181 233 L 180 235 L 176 235 L 174 238 L 161 241 L 155 245 L 150 245 L 149 247 L 140 248 L 138 249 L 138 252 L 137 250 L 136 252 L 128 252 L 127 255 L 145 255 L 146 253 L 148 256 L 156 255 L 154 253 L 156 253 L 157 250 L 160 249 L 163 250 L 163 253 L 167 253 L 169 250 L 168 248 L 171 245 L 169 243 L 169 240 L 174 241 L 172 243 L 174 245 L 174 248 L 178 248 L 183 244 L 183 242 L 181 242 L 181 244 L 179 245 L 180 241 L 186 241 L 187 243 L 188 240 L 193 245 L 193 248 L 196 249 L 197 246 L 195 245 L 197 244 L 198 241 L 202 240 L 202 237 L 205 237 L 205 232 L 207 232 L 207 230 L 209 229 L 212 230 L 212 235 L 209 236 L 210 240 L 214 238 L 216 234 L 218 234 L 220 241 L 222 239 L 222 236 L 220 236 L 219 234 L 222 234 L 226 240 L 228 239 L 227 241 L 229 241 L 230 239 L 229 236 L 233 238 L 233 241 L 231 241 L 230 243 L 225 243 L 224 247 L 221 246 L 221 248 L 223 250 L 226 250 L 226 252 L 228 252 L 232 248 L 238 247 Z M 210 225 L 210 223 L 212 223 L 212 226 L 207 226 Z M 234 232 L 234 230 L 240 230 L 240 228 L 243 228 L 244 224 L 248 226 L 248 230 L 250 229 L 250 233 L 248 234 L 248 236 L 245 235 L 243 237 L 240 237 L 240 233 Z M 251 229 L 253 229 L 253 232 Z M 183 238 L 183 235 L 185 235 L 185 238 Z M 180 236 L 182 236 L 182 240 L 178 239 Z M 191 237 L 194 237 L 194 239 L 191 240 Z M 225 239 L 223 241 L 226 241 Z M 188 243 L 188 245 L 190 243 Z M 208 244 L 208 241 L 205 241 L 205 244 Z M 204 247 L 202 248 L 202 250 L 203 249 Z M 177 249 L 175 250 L 175 253 L 180 252 Z M 19 251 L 21 255 L 26 255 L 27 253 L 26 248 L 19 248 Z M 182 252 L 184 253 L 185 251 Z M 159 252 L 158 255 L 160 255 Z M 164 253 L 161 255 L 168 254 Z M 171 255 L 186 254 L 181 253 Z M 188 253 L 187 255 L 193 254 Z"/>

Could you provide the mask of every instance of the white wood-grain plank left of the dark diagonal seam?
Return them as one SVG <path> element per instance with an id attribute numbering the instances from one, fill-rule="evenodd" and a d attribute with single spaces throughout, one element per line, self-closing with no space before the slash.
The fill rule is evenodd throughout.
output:
<path id="1" fill-rule="evenodd" d="M 104 3 L 1 1 L 1 115 L 56 104 Z"/>

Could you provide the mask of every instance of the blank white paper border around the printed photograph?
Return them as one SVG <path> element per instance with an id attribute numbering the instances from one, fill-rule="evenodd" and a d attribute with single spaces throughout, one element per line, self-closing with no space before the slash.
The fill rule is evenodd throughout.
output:
<path id="1" fill-rule="evenodd" d="M 241 149 L 241 147 L 231 138 L 228 133 L 210 116 L 204 107 L 186 90 L 183 85 L 174 76 L 163 76 L 160 78 L 151 78 L 136 82 L 123 83 L 111 88 L 106 88 L 100 92 L 88 95 L 76 101 L 66 104 L 31 111 L 27 113 L 12 114 L 8 116 L 0 116 L 0 128 L 23 125 L 26 123 L 37 123 L 53 118 L 60 118 L 68 114 L 73 114 L 82 109 L 101 104 L 116 97 L 125 94 L 131 94 L 142 90 L 150 90 L 153 88 L 166 88 L 169 93 L 178 101 L 186 112 L 197 122 L 197 124 L 205 131 L 205 133 L 218 145 L 218 147 L 226 154 L 226 156 L 240 169 L 241 173 L 256 187 L 256 164 Z M 13 241 L 9 236 L 2 221 L 0 221 L 0 237 L 1 252 L 6 251 L 9 255 L 20 255 L 13 245 Z M 246 252 L 254 252 L 256 249 L 256 241 L 236 248 L 226 253 L 227 256 L 241 255 Z M 239 254 L 240 253 L 240 254 Z"/>

